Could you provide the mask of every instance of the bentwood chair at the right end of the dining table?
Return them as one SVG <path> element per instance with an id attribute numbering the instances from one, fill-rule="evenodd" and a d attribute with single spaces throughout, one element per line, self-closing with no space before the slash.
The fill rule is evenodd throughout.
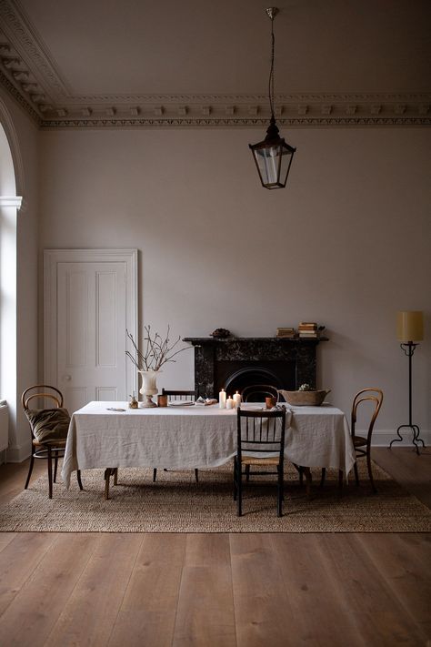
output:
<path id="1" fill-rule="evenodd" d="M 363 405 L 366 402 L 368 402 L 371 405 L 371 411 L 369 411 L 369 413 L 371 414 L 371 418 L 368 422 L 368 430 L 366 432 L 366 436 L 359 436 L 358 434 L 356 434 L 357 410 L 359 405 Z M 369 477 L 373 492 L 376 492 L 377 490 L 373 480 L 373 471 L 371 469 L 371 437 L 373 435 L 374 425 L 376 422 L 376 418 L 378 416 L 378 412 L 381 409 L 382 402 L 383 402 L 383 391 L 381 389 L 362 389 L 358 391 L 358 393 L 356 393 L 356 396 L 353 399 L 353 404 L 352 404 L 352 417 L 351 417 L 350 431 L 352 434 L 352 440 L 353 440 L 353 444 L 356 452 L 356 461 L 354 465 L 356 485 L 359 485 L 359 476 L 357 473 L 357 459 L 361 457 L 366 457 L 368 477 Z M 364 407 L 361 406 L 361 409 L 364 409 Z M 325 482 L 325 474 L 326 474 L 326 470 L 325 468 L 323 468 L 322 478 L 320 480 L 321 485 L 323 485 Z M 340 474 L 340 484 L 342 482 L 341 479 L 342 479 L 342 472 Z"/>

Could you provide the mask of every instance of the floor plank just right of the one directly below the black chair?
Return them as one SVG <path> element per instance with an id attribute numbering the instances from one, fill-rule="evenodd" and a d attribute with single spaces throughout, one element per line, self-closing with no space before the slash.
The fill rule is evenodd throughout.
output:
<path id="1" fill-rule="evenodd" d="M 350 647 L 363 645 L 336 573 L 327 568 L 317 534 L 273 534 L 289 604 L 296 618 L 293 644 Z M 291 638 L 292 640 L 292 638 Z"/>

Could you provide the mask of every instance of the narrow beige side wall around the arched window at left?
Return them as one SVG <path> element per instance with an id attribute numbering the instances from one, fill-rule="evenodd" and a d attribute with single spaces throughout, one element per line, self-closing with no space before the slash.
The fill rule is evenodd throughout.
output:
<path id="1" fill-rule="evenodd" d="M 16 383 L 7 387 L 11 409 L 7 460 L 23 460 L 30 452 L 29 430 L 20 407 L 22 391 L 37 381 L 37 215 L 38 215 L 38 136 L 35 124 L 0 86 L 2 124 L 12 147 L 15 163 L 16 195 L 23 207 L 16 218 Z M 14 194 L 15 195 L 15 194 Z M 11 276 L 11 279 L 13 277 Z"/>

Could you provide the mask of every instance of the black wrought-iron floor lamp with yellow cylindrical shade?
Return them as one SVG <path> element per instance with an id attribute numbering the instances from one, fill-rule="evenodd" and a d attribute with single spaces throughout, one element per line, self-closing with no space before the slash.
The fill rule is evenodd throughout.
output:
<path id="1" fill-rule="evenodd" d="M 401 342 L 400 347 L 408 358 L 408 424 L 398 427 L 396 430 L 398 438 L 391 440 L 389 448 L 392 447 L 393 442 L 403 440 L 400 430 L 410 429 L 413 431 L 413 444 L 418 454 L 419 443 L 422 443 L 422 447 L 425 447 L 425 442 L 419 438 L 419 427 L 412 422 L 412 358 L 416 346 L 418 346 L 415 341 L 424 339 L 424 314 L 417 310 L 398 312 L 396 314 L 396 337 Z"/>

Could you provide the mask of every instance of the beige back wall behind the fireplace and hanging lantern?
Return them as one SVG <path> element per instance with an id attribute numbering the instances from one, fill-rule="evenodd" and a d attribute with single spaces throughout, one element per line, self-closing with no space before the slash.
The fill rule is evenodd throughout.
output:
<path id="1" fill-rule="evenodd" d="M 182 337 L 325 324 L 319 386 L 343 409 L 357 389 L 382 387 L 384 442 L 407 420 L 396 310 L 423 309 L 414 411 L 430 430 L 431 131 L 282 134 L 296 158 L 286 190 L 267 191 L 247 147 L 262 129 L 45 132 L 40 254 L 138 248 L 141 323 Z M 193 351 L 160 386 L 192 385 Z"/>

